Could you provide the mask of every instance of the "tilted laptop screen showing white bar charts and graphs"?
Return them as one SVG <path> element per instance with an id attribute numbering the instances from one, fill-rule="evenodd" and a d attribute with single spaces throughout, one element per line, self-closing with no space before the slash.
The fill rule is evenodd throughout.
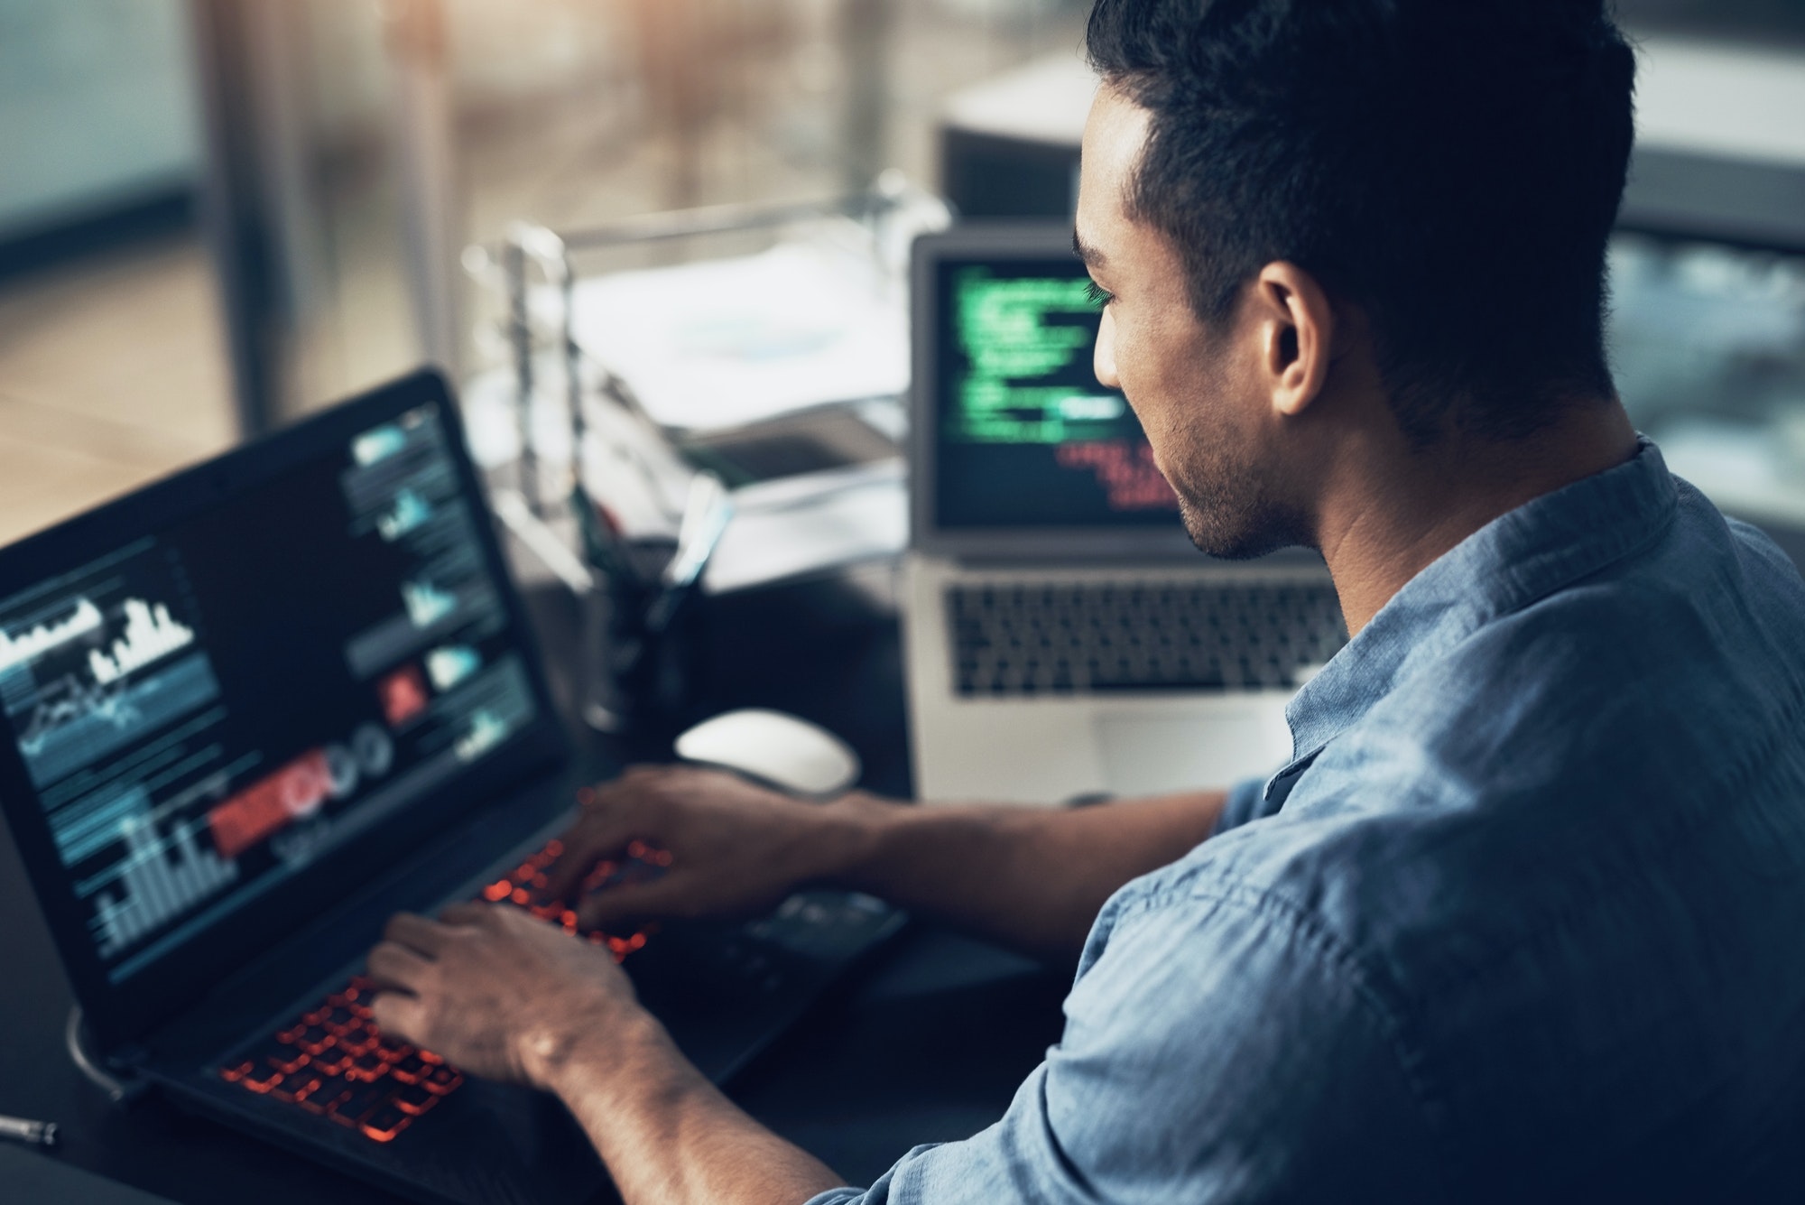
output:
<path id="1" fill-rule="evenodd" d="M 5 736 L 112 985 L 540 714 L 444 406 L 7 583 Z"/>

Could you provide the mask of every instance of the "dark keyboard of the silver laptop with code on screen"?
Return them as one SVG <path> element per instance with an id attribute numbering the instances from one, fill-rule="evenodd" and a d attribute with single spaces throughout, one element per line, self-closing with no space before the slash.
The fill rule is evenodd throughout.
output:
<path id="1" fill-rule="evenodd" d="M 1347 644 L 1328 583 L 946 590 L 960 694 L 1291 689 Z"/>

